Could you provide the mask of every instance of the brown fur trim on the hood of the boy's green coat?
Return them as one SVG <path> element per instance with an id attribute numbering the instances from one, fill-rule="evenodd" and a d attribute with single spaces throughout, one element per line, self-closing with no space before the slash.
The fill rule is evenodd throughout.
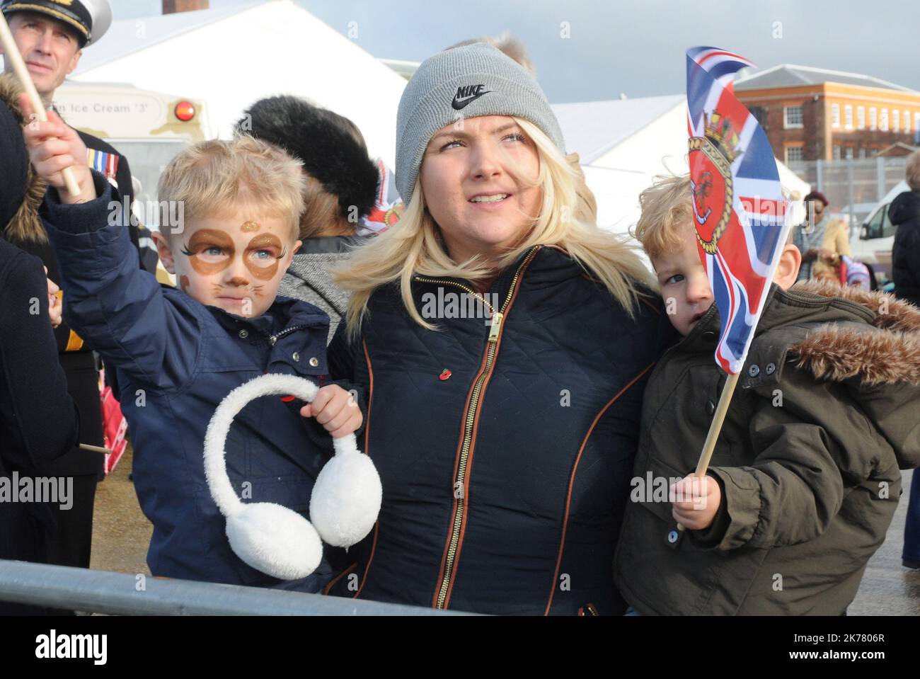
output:
<path id="1" fill-rule="evenodd" d="M 789 346 L 799 367 L 819 379 L 858 378 L 866 386 L 920 386 L 920 309 L 882 292 L 803 282 L 791 293 L 845 300 L 868 311 L 868 323 L 843 321 L 819 326 Z"/>

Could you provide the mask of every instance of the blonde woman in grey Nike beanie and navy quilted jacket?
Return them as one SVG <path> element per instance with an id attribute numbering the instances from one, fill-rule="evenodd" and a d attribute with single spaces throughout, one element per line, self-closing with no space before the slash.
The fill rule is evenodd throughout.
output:
<path id="1" fill-rule="evenodd" d="M 614 546 L 670 327 L 648 272 L 573 218 L 546 97 L 489 45 L 441 52 L 409 81 L 397 188 L 405 216 L 338 279 L 352 296 L 330 370 L 366 390 L 384 501 L 327 592 L 621 613 Z"/>

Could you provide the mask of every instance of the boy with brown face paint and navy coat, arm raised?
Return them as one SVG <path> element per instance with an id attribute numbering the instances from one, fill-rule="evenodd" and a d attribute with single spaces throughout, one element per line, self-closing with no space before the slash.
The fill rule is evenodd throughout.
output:
<path id="1" fill-rule="evenodd" d="M 174 289 L 138 267 L 124 229 L 109 225 L 117 190 L 75 163 L 86 157 L 79 137 L 53 112 L 49 117 L 24 134 L 33 166 L 50 185 L 42 211 L 61 263 L 63 315 L 115 368 L 132 431 L 135 488 L 154 524 L 151 572 L 318 592 L 332 573 L 326 558 L 308 578 L 282 583 L 236 557 L 202 456 L 214 409 L 236 386 L 265 373 L 328 382 L 328 316 L 277 297 L 301 244 L 300 164 L 248 137 L 195 144 L 177 155 L 158 193 L 164 216 L 178 202 L 183 219 L 155 234 L 164 266 L 177 276 Z M 79 196 L 63 189 L 63 167 L 72 168 Z M 226 440 L 231 483 L 243 501 L 276 502 L 307 515 L 316 475 L 332 455 L 329 434 L 361 425 L 360 406 L 340 385 L 322 386 L 309 405 L 259 398 L 236 416 Z"/>

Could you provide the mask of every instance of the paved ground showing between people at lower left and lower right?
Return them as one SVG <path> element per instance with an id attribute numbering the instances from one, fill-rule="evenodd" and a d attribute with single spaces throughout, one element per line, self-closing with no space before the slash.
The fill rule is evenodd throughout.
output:
<path id="1" fill-rule="evenodd" d="M 129 446 L 119 466 L 98 486 L 92 568 L 149 575 L 146 553 L 152 527 L 141 513 L 134 486 L 128 480 L 131 462 Z M 920 616 L 920 572 L 901 565 L 911 476 L 911 472 L 904 473 L 903 501 L 888 538 L 868 562 L 857 598 L 849 608 L 850 616 Z"/>

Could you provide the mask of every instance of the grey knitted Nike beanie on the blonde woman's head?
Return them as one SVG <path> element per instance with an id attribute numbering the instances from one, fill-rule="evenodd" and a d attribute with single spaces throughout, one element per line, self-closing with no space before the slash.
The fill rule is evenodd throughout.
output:
<path id="1" fill-rule="evenodd" d="M 556 115 L 533 75 L 485 42 L 454 47 L 422 62 L 399 99 L 397 189 L 406 205 L 434 133 L 478 116 L 516 116 L 533 122 L 565 154 Z"/>

